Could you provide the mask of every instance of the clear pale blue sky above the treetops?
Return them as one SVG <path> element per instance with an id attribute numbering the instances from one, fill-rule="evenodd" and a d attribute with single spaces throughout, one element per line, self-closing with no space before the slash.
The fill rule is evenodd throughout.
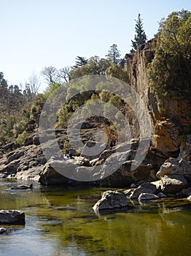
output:
<path id="1" fill-rule="evenodd" d="M 190 0 L 0 0 L 0 72 L 24 85 L 44 67 L 72 66 L 77 56 L 104 58 L 117 44 L 129 53 L 141 14 L 148 39 L 162 18 L 191 10 Z M 46 83 L 41 82 L 40 90 Z"/>

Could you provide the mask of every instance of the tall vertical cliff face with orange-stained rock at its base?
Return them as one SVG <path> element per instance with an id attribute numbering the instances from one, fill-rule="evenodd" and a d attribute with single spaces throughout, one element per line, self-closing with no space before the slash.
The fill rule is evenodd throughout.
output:
<path id="1" fill-rule="evenodd" d="M 153 146 L 163 154 L 171 155 L 179 151 L 185 129 L 190 129 L 190 95 L 185 97 L 166 97 L 163 99 L 163 113 L 158 109 L 158 102 L 149 88 L 147 76 L 148 64 L 155 57 L 152 40 L 140 45 L 133 55 L 126 54 L 130 86 L 135 89 L 149 110 L 153 127 Z M 147 127 L 144 127 L 147 129 Z"/>

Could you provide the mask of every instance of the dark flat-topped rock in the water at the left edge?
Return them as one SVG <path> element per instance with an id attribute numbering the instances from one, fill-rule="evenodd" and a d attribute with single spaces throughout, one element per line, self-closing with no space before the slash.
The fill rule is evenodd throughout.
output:
<path id="1" fill-rule="evenodd" d="M 0 223 L 25 222 L 25 213 L 23 211 L 8 210 L 0 211 Z"/>

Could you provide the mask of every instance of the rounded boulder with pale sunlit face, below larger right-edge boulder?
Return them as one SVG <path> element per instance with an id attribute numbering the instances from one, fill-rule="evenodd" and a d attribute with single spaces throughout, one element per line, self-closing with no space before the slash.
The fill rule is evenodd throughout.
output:
<path id="1" fill-rule="evenodd" d="M 180 192 L 182 189 L 188 187 L 188 182 L 184 176 L 181 175 L 165 175 L 161 179 L 162 186 L 161 190 L 165 194 L 176 194 L 176 192 Z"/>

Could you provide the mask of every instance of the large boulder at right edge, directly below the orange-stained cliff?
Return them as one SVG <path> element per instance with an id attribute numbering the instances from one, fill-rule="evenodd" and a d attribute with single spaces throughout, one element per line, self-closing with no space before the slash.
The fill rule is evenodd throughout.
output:
<path id="1" fill-rule="evenodd" d="M 166 174 L 180 174 L 191 179 L 191 162 L 170 157 L 160 167 L 160 170 L 157 172 L 157 177 L 162 178 Z"/>

